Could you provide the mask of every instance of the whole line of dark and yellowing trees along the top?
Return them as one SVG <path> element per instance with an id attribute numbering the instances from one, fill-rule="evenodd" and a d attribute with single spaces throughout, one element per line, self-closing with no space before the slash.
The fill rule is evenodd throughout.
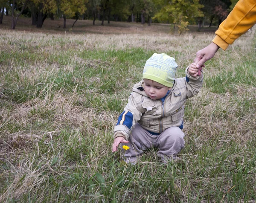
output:
<path id="1" fill-rule="evenodd" d="M 142 24 L 170 23 L 179 32 L 189 24 L 205 22 L 219 25 L 238 0 L 0 0 L 0 24 L 4 14 L 12 15 L 11 29 L 15 29 L 18 17 L 23 14 L 32 18 L 32 25 L 43 26 L 49 17 L 66 19 L 91 19 L 110 23 L 114 21 L 140 22 Z"/>

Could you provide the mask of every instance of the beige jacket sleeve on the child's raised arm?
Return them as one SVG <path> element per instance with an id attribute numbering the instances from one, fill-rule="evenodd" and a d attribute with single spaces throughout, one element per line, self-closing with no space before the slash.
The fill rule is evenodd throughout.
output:
<path id="1" fill-rule="evenodd" d="M 200 76 L 196 76 L 195 78 L 189 75 L 188 73 L 189 67 L 186 68 L 186 77 L 184 78 L 186 83 L 186 92 L 187 98 L 195 96 L 201 90 L 203 86 L 203 70 Z"/>

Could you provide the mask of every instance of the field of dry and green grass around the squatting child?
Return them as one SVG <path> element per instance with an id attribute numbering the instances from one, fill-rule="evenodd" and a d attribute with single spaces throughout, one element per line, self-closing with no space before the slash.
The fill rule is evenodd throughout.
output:
<path id="1" fill-rule="evenodd" d="M 145 61 L 164 52 L 183 77 L 214 34 L 22 22 L 0 29 L 0 202 L 255 202 L 254 30 L 206 64 L 180 159 L 163 164 L 152 149 L 131 166 L 111 152 L 113 127 Z"/>

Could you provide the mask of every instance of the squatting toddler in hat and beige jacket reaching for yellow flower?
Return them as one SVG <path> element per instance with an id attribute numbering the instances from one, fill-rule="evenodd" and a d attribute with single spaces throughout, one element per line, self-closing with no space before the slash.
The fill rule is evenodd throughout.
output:
<path id="1" fill-rule="evenodd" d="M 203 74 L 192 63 L 186 77 L 176 78 L 178 65 L 166 54 L 154 53 L 143 70 L 143 80 L 134 85 L 128 104 L 114 128 L 112 152 L 127 145 L 125 162 L 135 164 L 148 148 L 159 148 L 157 155 L 167 162 L 184 147 L 183 116 L 186 99 L 196 95 Z"/>

